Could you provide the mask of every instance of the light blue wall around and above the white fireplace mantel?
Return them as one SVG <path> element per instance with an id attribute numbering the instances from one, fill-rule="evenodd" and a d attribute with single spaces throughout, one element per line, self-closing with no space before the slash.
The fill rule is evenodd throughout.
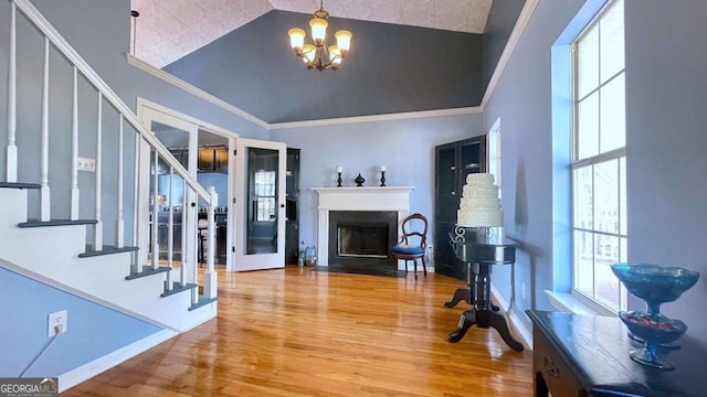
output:
<path id="1" fill-rule="evenodd" d="M 312 187 L 336 186 L 336 168 L 344 168 L 345 186 L 355 186 L 360 172 L 366 186 L 414 186 L 411 212 L 434 222 L 434 146 L 483 135 L 482 115 L 411 118 L 336 126 L 277 129 L 271 139 L 302 149 L 299 238 L 317 240 L 317 196 Z"/>

